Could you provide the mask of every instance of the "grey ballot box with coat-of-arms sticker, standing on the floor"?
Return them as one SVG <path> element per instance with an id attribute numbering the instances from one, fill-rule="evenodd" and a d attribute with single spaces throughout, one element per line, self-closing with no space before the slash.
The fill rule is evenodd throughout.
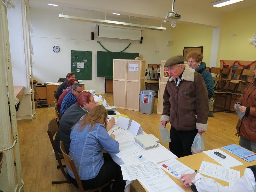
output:
<path id="1" fill-rule="evenodd" d="M 140 92 L 140 113 L 151 114 L 154 110 L 156 92 L 144 90 Z"/>

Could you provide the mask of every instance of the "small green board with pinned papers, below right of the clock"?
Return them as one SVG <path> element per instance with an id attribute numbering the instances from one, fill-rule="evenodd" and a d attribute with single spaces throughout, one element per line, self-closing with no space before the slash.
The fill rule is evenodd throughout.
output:
<path id="1" fill-rule="evenodd" d="M 78 80 L 92 79 L 92 52 L 71 50 L 71 72 Z"/>

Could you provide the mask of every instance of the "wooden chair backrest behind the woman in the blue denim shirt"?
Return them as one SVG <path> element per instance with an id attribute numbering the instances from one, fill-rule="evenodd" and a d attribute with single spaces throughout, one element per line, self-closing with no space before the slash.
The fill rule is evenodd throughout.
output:
<path id="1" fill-rule="evenodd" d="M 62 152 L 62 155 L 63 155 L 64 159 L 65 159 L 66 166 L 68 166 L 68 169 L 69 169 L 70 171 L 72 171 L 72 172 L 74 173 L 74 175 L 75 175 L 76 183 L 77 183 L 77 185 L 78 185 L 79 191 L 84 192 L 84 187 L 83 187 L 83 185 L 82 185 L 81 179 L 80 179 L 79 174 L 78 174 L 78 172 L 77 172 L 75 162 L 74 162 L 73 159 L 71 159 L 70 156 L 66 153 L 65 148 L 64 148 L 63 141 L 60 141 L 60 150 L 61 150 L 61 152 Z"/>

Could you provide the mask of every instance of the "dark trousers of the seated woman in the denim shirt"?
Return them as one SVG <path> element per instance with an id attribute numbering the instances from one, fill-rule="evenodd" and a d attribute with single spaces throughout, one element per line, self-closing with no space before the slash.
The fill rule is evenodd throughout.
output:
<path id="1" fill-rule="evenodd" d="M 99 174 L 93 179 L 81 180 L 84 190 L 100 187 L 108 183 L 110 180 L 115 179 L 113 182 L 113 191 L 124 191 L 125 181 L 123 180 L 121 167 L 113 161 L 108 153 L 103 153 L 103 158 L 105 162 L 100 168 Z M 68 175 L 68 177 L 70 181 L 77 187 L 76 180 L 70 175 Z"/>

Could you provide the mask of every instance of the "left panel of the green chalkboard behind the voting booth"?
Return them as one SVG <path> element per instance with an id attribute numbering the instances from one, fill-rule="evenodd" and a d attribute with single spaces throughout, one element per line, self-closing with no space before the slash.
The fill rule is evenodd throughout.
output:
<path id="1" fill-rule="evenodd" d="M 113 77 L 113 59 L 119 59 L 119 52 L 97 51 L 97 77 Z"/>

